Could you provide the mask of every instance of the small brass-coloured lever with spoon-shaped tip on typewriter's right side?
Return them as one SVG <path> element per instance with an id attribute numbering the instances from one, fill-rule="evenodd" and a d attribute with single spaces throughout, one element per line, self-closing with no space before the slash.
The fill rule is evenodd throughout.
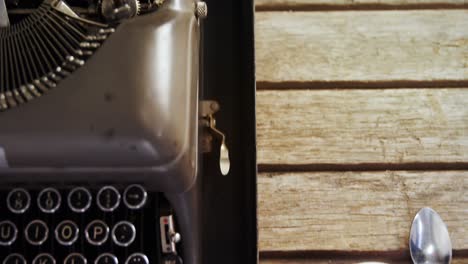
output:
<path id="1" fill-rule="evenodd" d="M 231 169 L 231 161 L 229 159 L 229 149 L 226 145 L 226 135 L 216 128 L 216 118 L 214 114 L 219 111 L 219 104 L 216 101 L 202 101 L 200 114 L 202 125 L 209 128 L 211 133 L 221 139 L 221 146 L 219 149 L 219 169 L 224 176 L 229 174 Z M 211 152 L 211 151 L 207 151 Z"/>

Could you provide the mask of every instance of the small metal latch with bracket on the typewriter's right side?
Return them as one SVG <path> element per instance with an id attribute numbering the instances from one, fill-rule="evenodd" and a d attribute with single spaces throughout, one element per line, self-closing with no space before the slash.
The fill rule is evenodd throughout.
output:
<path id="1" fill-rule="evenodd" d="M 226 135 L 216 128 L 216 119 L 214 114 L 218 112 L 220 106 L 216 101 L 202 101 L 200 104 L 200 124 L 202 127 L 208 128 L 212 135 L 218 137 L 221 140 L 221 146 L 219 150 L 219 168 L 223 175 L 229 173 L 231 162 L 229 160 L 229 149 L 226 145 Z M 203 152 L 212 152 L 212 138 L 208 134 L 203 134 Z"/>

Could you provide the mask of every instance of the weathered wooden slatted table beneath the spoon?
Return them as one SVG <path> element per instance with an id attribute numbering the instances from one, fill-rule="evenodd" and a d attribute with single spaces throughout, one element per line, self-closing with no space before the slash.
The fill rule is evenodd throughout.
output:
<path id="1" fill-rule="evenodd" d="M 257 0 L 261 263 L 468 263 L 468 2 Z"/>

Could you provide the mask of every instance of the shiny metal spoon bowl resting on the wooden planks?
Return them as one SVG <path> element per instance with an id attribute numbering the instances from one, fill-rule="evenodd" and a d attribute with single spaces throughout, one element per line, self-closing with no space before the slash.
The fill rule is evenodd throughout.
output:
<path id="1" fill-rule="evenodd" d="M 415 264 L 449 264 L 452 242 L 442 218 L 429 207 L 421 209 L 410 232 L 410 253 Z"/>

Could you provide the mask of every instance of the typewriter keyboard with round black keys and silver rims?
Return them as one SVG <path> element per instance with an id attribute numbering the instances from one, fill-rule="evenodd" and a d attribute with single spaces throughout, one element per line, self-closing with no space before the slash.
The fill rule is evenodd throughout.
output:
<path id="1" fill-rule="evenodd" d="M 138 184 L 0 190 L 0 264 L 180 263 L 161 247 L 169 212 Z"/>

